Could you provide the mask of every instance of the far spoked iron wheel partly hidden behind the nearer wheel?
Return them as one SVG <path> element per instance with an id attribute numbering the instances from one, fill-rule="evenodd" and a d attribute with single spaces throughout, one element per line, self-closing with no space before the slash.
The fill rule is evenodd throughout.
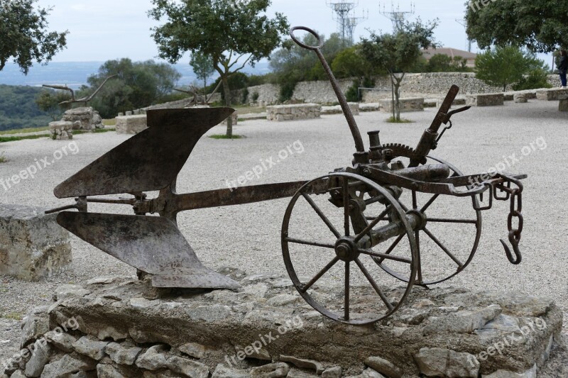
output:
<path id="1" fill-rule="evenodd" d="M 457 167 L 442 159 L 431 156 L 429 156 L 428 158 L 447 165 L 449 169 L 451 169 L 451 171 L 453 172 L 452 176 L 463 175 L 461 171 L 457 169 Z M 471 230 L 469 231 L 473 236 L 473 245 L 471 246 L 471 250 L 469 248 L 466 248 L 465 252 L 462 251 L 460 254 L 457 254 L 457 252 L 453 250 L 454 248 L 448 247 L 447 243 L 444 243 L 443 240 L 440 240 L 439 235 L 437 235 L 439 233 L 432 231 L 432 229 L 429 228 L 428 226 L 426 226 L 422 230 L 415 231 L 415 239 L 417 242 L 417 259 L 418 259 L 418 272 L 415 283 L 420 285 L 439 284 L 440 282 L 447 281 L 448 279 L 454 277 L 456 274 L 462 272 L 469 265 L 471 260 L 473 260 L 474 258 L 475 252 L 479 246 L 479 240 L 481 238 L 481 211 L 476 210 L 476 208 L 479 208 L 479 201 L 477 200 L 476 196 L 471 197 L 470 211 L 472 214 L 474 214 L 473 216 L 465 216 L 464 218 L 459 218 L 459 219 L 429 218 L 427 216 L 427 212 L 432 210 L 432 206 L 435 206 L 440 196 L 430 195 L 430 198 L 426 201 L 422 201 L 422 205 L 420 205 L 421 201 L 418 199 L 417 192 L 411 191 L 410 194 L 412 196 L 412 200 L 409 202 L 412 203 L 410 204 L 410 206 L 403 205 L 405 211 L 419 210 L 422 213 L 425 213 L 428 224 L 443 223 L 445 228 L 450 228 L 452 226 L 456 228 L 456 225 L 469 224 L 469 226 L 471 227 Z M 452 234 L 451 232 L 447 233 Z M 444 258 L 452 260 L 456 269 L 454 271 L 449 271 L 442 274 L 435 274 L 437 277 L 432 277 L 432 275 L 429 274 L 429 272 L 422 272 L 422 269 L 424 268 L 424 259 L 425 257 L 427 257 L 424 248 L 421 248 L 423 245 L 422 241 L 430 241 L 430 244 L 434 245 L 434 248 L 437 248 L 439 250 L 438 251 L 439 255 L 442 255 L 442 257 L 445 256 Z M 393 249 L 394 248 L 396 248 L 396 245 L 393 247 Z M 396 269 L 392 269 L 391 267 L 389 267 L 388 262 L 385 262 L 385 260 L 381 259 L 373 259 L 373 260 L 375 260 L 378 266 L 381 267 L 385 272 L 391 274 L 391 276 L 400 279 L 400 281 L 408 282 L 409 277 L 407 274 L 401 274 Z"/>

